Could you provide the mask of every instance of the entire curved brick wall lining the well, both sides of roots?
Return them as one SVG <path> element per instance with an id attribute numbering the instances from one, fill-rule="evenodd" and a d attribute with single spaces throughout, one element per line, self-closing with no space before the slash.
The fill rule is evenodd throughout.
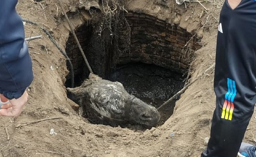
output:
<path id="1" fill-rule="evenodd" d="M 93 26 L 84 24 L 76 28 L 76 35 L 94 73 L 104 78 L 113 70 L 114 65 L 134 62 L 155 64 L 179 73 L 187 71 L 190 59 L 184 58 L 183 49 L 186 49 L 187 42 L 193 36 L 191 33 L 177 25 L 168 24 L 143 13 L 130 12 L 126 13 L 125 17 L 131 27 L 129 52 L 114 52 L 115 46 L 111 45 L 113 36 L 107 29 L 102 32 L 105 39 L 99 37 L 101 21 L 94 23 Z M 120 50 L 126 47 L 124 36 L 122 33 L 118 35 Z M 196 38 L 192 41 L 195 42 L 192 43 L 191 49 L 195 50 Z M 73 64 L 75 85 L 78 86 L 87 78 L 89 71 L 71 33 L 66 44 L 66 52 Z M 66 86 L 69 86 L 68 82 L 70 75 L 67 76 Z"/>

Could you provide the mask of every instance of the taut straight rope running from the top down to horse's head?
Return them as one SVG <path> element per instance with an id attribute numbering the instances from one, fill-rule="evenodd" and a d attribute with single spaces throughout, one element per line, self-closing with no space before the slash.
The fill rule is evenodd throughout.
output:
<path id="1" fill-rule="evenodd" d="M 85 63 L 86 63 L 86 65 L 87 65 L 87 67 L 88 67 L 90 73 L 93 74 L 92 69 L 91 69 L 91 66 L 89 65 L 88 60 L 87 60 L 87 58 L 86 58 L 86 56 L 85 56 L 85 53 L 84 53 L 84 51 L 83 51 L 83 49 L 82 49 L 82 47 L 81 47 L 81 45 L 80 45 L 80 43 L 79 43 L 79 41 L 78 41 L 78 39 L 77 39 L 77 36 L 76 36 L 76 34 L 75 34 L 75 32 L 74 32 L 74 29 L 73 29 L 72 24 L 71 24 L 70 21 L 69 21 L 69 18 L 68 18 L 68 16 L 67 16 L 66 12 L 65 12 L 65 9 L 63 8 L 63 5 L 62 5 L 61 1 L 60 1 L 60 0 L 58 0 L 58 1 L 59 1 L 59 5 L 60 5 L 60 7 L 61 7 L 61 10 L 62 10 L 62 12 L 64 13 L 65 18 L 66 18 L 66 20 L 67 20 L 67 22 L 68 22 L 68 25 L 69 25 L 69 27 L 70 27 L 70 29 L 71 29 L 71 33 L 73 34 L 73 36 L 74 36 L 74 38 L 75 38 L 76 44 L 78 45 L 78 48 L 79 48 L 79 50 L 80 50 L 80 52 L 81 52 L 81 54 L 82 54 L 82 56 L 83 56 L 83 58 L 84 58 L 84 60 L 85 60 Z"/>

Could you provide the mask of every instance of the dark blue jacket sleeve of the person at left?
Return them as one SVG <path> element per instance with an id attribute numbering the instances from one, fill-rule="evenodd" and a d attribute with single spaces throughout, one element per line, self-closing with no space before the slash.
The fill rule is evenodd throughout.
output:
<path id="1" fill-rule="evenodd" d="M 15 10 L 17 2 L 0 1 L 0 93 L 8 99 L 21 97 L 33 80 L 23 22 Z"/>

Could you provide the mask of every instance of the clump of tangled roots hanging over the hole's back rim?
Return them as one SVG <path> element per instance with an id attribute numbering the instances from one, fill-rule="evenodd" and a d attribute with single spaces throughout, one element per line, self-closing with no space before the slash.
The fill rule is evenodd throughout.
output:
<path id="1" fill-rule="evenodd" d="M 105 29 L 110 32 L 111 45 L 114 45 L 113 52 L 115 52 L 112 56 L 114 64 L 118 54 L 130 52 L 131 27 L 124 15 L 125 12 L 128 13 L 124 8 L 125 4 L 126 0 L 102 0 L 103 19 L 99 35 Z M 119 47 L 120 45 L 122 48 Z"/>

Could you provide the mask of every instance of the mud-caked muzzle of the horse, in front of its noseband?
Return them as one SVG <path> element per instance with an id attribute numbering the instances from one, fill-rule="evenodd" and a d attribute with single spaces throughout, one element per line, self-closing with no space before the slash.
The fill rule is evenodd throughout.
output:
<path id="1" fill-rule="evenodd" d="M 156 127 L 160 121 L 160 114 L 155 107 L 132 95 L 125 104 L 125 117 L 132 123 L 150 127 Z"/>

